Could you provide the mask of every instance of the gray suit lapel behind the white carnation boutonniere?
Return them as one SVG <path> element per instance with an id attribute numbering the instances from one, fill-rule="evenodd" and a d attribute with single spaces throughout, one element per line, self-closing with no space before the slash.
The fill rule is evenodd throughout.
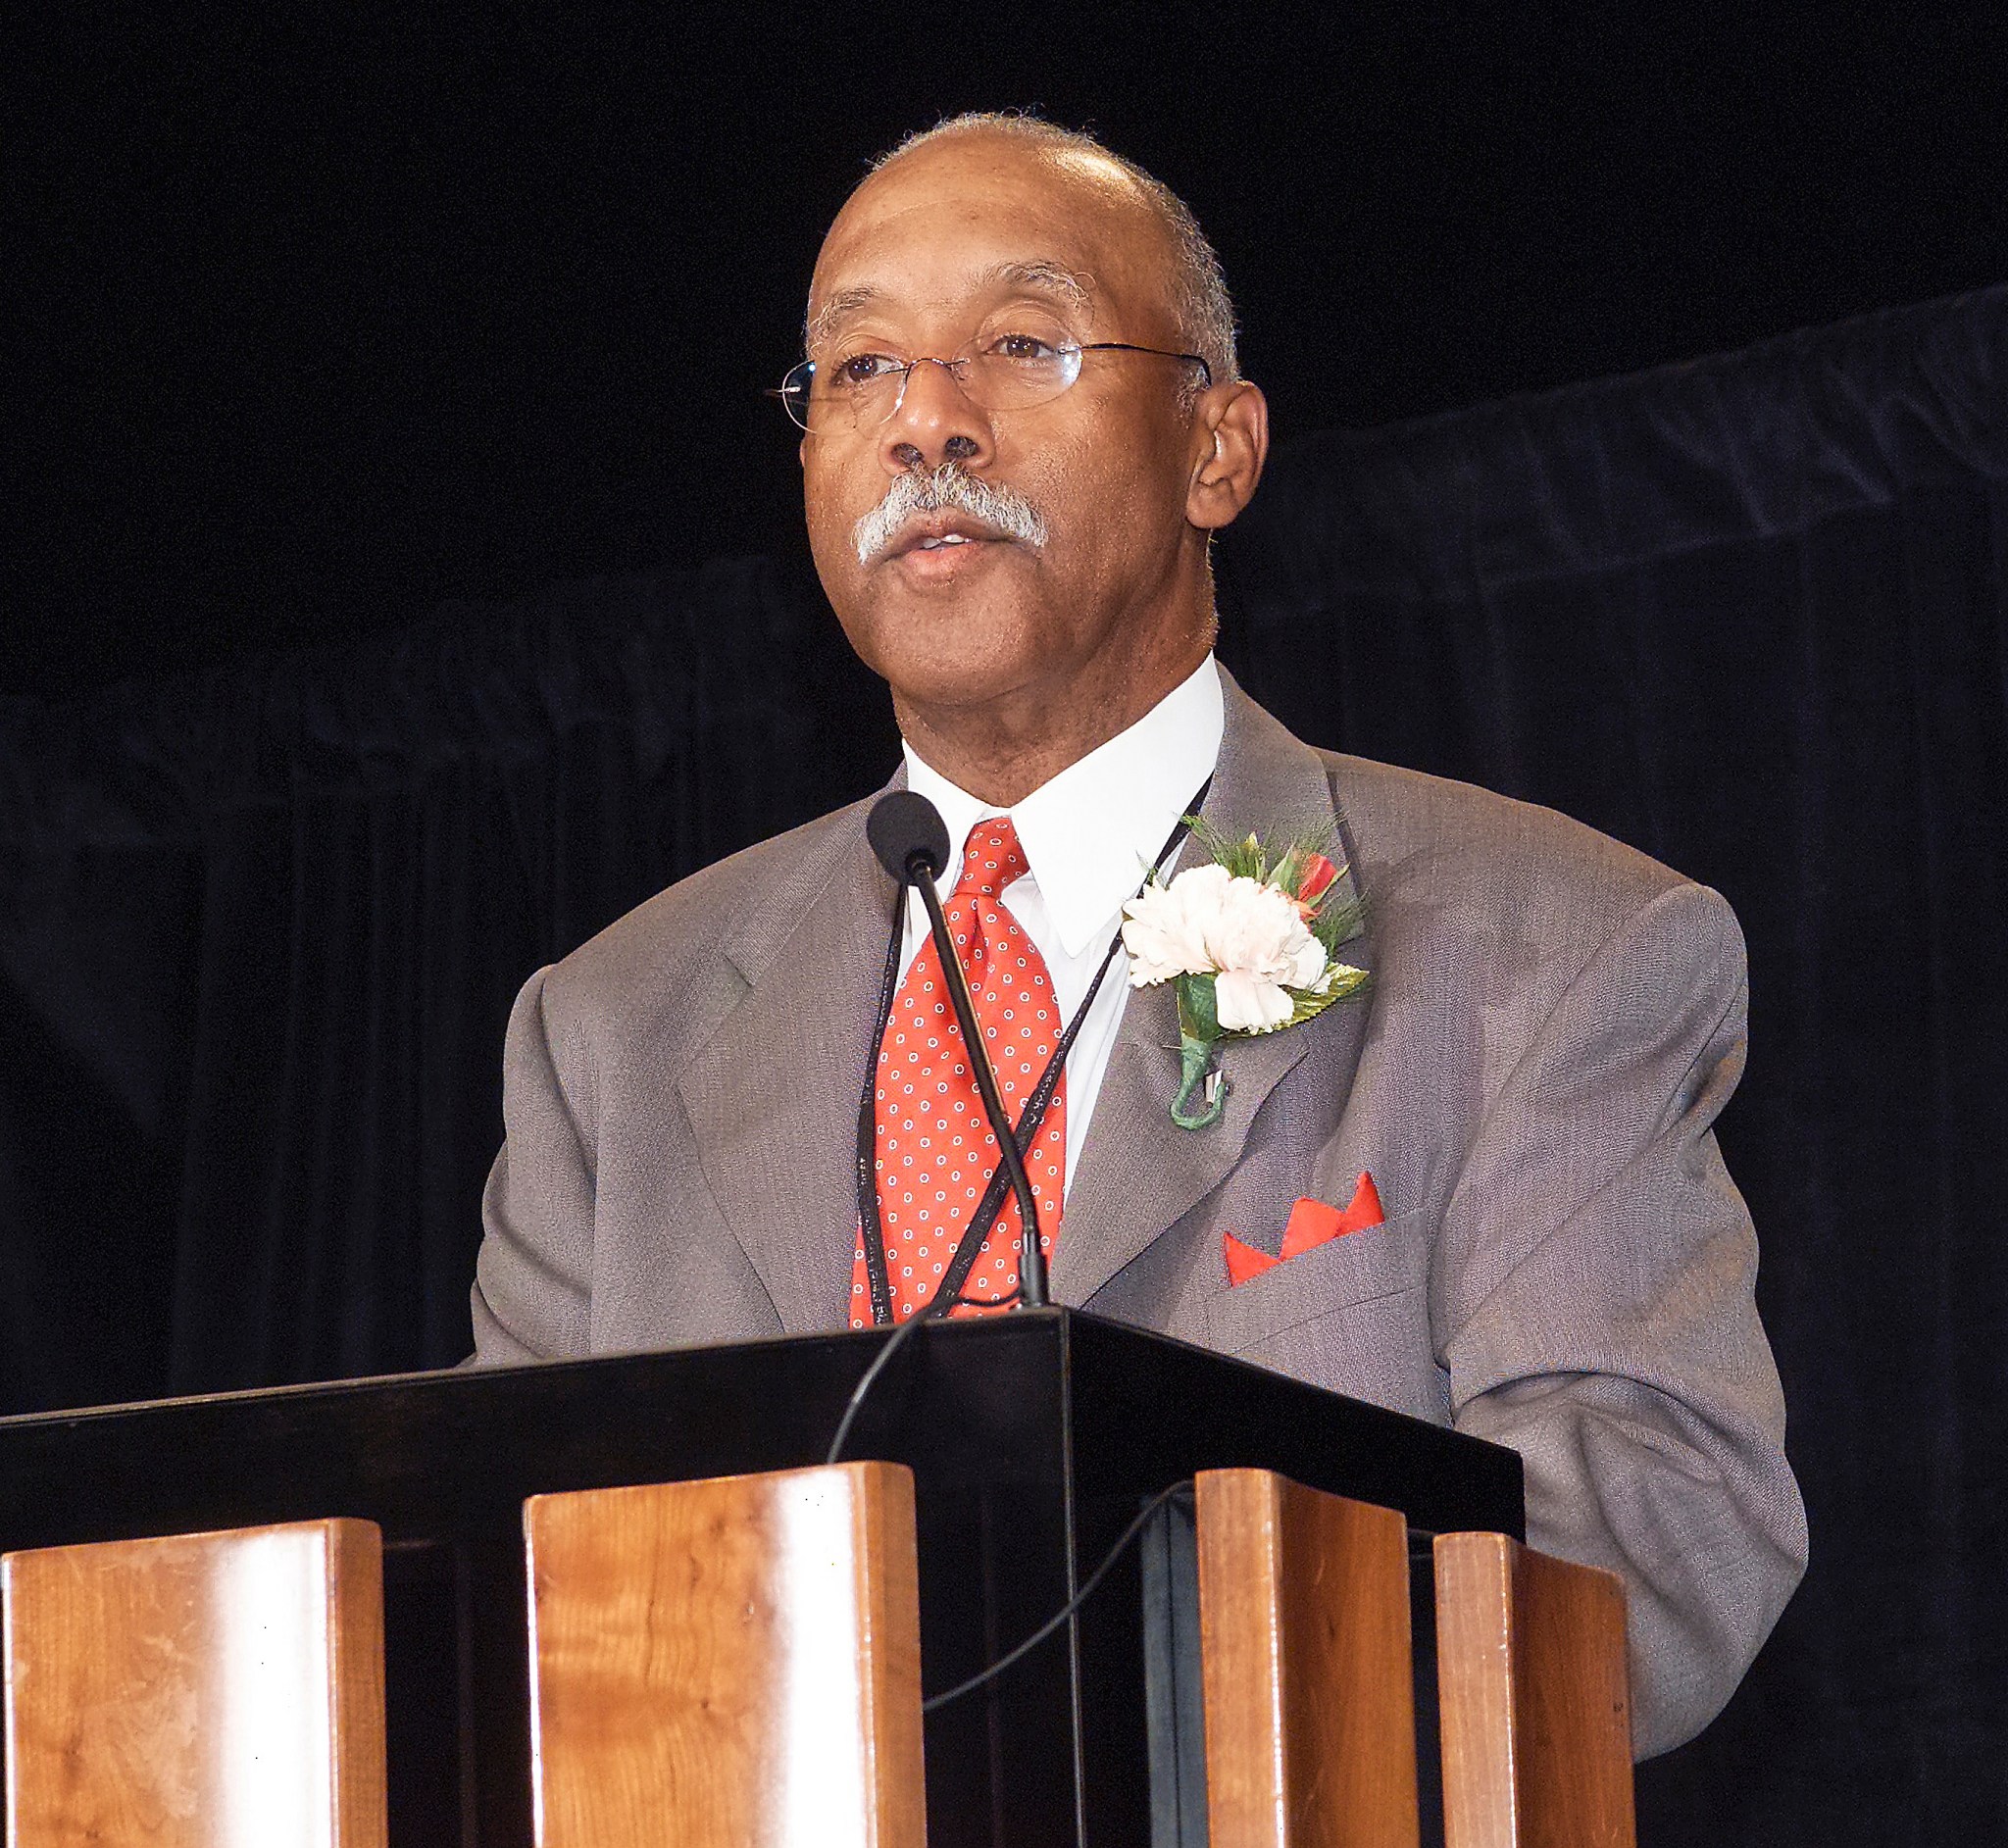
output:
<path id="1" fill-rule="evenodd" d="M 1333 803 L 1323 759 L 1241 693 L 1225 669 L 1221 679 L 1227 687 L 1227 731 L 1205 818 L 1229 838 L 1251 830 L 1273 838 L 1333 824 L 1343 838 L 1343 818 Z M 1197 844 L 1187 842 L 1179 868 L 1197 860 Z M 1339 896 L 1357 896 L 1351 868 Z M 1339 1002 L 1303 1026 L 1225 1041 L 1227 1105 L 1215 1125 L 1189 1131 L 1171 1121 L 1179 1089 L 1173 988 L 1165 982 L 1135 990 L 1094 1101 L 1080 1173 L 1068 1189 L 1052 1259 L 1054 1298 L 1086 1302 L 1165 1227 L 1219 1187 L 1241 1159 L 1257 1111 L 1303 1061 L 1315 1061 L 1315 1089 L 1333 1101 L 1335 1121 L 1359 1063 L 1363 1022 L 1363 1006 Z"/>

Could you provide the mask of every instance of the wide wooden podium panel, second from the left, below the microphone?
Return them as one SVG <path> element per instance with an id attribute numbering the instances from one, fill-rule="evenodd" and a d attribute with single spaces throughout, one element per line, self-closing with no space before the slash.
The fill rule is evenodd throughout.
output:
<path id="1" fill-rule="evenodd" d="M 540 1494 L 538 1848 L 920 1848 L 914 1474 Z"/>

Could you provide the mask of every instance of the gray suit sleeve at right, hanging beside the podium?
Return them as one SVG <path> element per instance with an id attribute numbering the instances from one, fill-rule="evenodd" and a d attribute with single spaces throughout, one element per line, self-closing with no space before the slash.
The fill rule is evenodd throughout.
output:
<path id="1" fill-rule="evenodd" d="M 1723 1707 L 1805 1569 L 1757 1239 L 1713 1133 L 1745 1004 L 1715 892 L 1635 912 L 1488 1099 L 1432 1272 L 1456 1426 L 1526 1460 L 1532 1545 L 1624 1579 L 1641 1758 Z"/>

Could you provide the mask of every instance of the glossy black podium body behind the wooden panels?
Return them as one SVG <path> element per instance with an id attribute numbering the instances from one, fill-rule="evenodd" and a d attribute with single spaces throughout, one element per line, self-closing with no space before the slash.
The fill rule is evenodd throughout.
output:
<path id="1" fill-rule="evenodd" d="M 524 1503 L 819 1464 L 886 1340 L 799 1336 L 0 1420 L 0 1551 L 375 1523 L 390 1840 L 528 1848 Z M 845 1456 L 914 1474 L 928 1693 L 1046 1623 L 1151 1496 L 1201 1470 L 1275 1470 L 1377 1503 L 1400 1511 L 1412 1545 L 1522 1537 L 1514 1452 L 1072 1310 L 914 1332 Z M 1193 1802 L 1179 1782 L 1197 1713 L 1191 1557 L 1175 1500 L 1070 1623 L 928 1715 L 936 1848 L 1195 1838 L 1175 1814 Z"/>

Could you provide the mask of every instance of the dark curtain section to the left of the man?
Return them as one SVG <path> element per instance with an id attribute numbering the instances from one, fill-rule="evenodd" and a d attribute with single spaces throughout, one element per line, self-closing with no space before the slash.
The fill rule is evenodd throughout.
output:
<path id="1" fill-rule="evenodd" d="M 757 560 L 0 707 L 6 1410 L 458 1360 L 524 976 L 894 749 Z"/>

